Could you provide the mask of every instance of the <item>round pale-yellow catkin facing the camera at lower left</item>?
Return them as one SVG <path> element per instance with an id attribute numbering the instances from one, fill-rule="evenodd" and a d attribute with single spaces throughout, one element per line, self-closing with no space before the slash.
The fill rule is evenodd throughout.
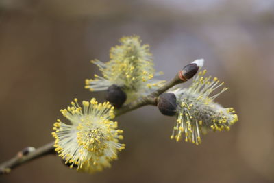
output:
<path id="1" fill-rule="evenodd" d="M 77 99 L 72 106 L 61 110 L 72 125 L 58 120 L 53 125 L 55 151 L 70 167 L 79 171 L 100 171 L 110 167 L 110 161 L 117 158 L 117 152 L 125 148 L 119 143 L 123 130 L 117 130 L 114 107 L 109 102 L 98 103 L 95 99 L 83 101 L 79 106 Z"/>

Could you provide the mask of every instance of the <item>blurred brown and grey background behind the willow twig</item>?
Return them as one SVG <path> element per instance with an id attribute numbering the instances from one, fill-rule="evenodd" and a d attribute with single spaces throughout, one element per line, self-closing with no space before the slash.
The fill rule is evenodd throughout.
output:
<path id="1" fill-rule="evenodd" d="M 169 80 L 197 58 L 230 89 L 217 101 L 239 116 L 230 132 L 199 146 L 169 136 L 174 118 L 147 106 L 118 118 L 127 147 L 111 169 L 88 175 L 45 156 L 0 182 L 273 182 L 274 1 L 1 0 L 0 162 L 49 141 L 60 109 L 97 97 L 84 80 L 99 73 L 121 36 L 151 45 Z M 187 86 L 187 84 L 186 84 Z"/>

